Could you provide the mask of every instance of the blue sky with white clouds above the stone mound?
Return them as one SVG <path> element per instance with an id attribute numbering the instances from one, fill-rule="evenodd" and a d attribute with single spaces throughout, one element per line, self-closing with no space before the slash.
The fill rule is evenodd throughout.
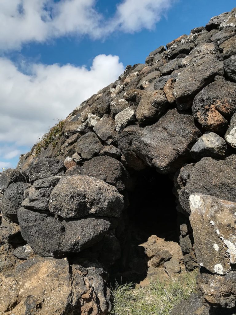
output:
<path id="1" fill-rule="evenodd" d="M 0 0 L 0 172 L 127 65 L 235 0 Z"/>

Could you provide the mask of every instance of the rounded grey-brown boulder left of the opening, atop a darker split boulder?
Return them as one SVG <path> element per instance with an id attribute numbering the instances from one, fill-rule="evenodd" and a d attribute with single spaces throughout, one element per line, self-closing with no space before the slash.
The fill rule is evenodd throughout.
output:
<path id="1" fill-rule="evenodd" d="M 49 200 L 49 211 L 63 218 L 119 217 L 123 208 L 123 198 L 114 186 L 87 175 L 61 178 Z"/>

